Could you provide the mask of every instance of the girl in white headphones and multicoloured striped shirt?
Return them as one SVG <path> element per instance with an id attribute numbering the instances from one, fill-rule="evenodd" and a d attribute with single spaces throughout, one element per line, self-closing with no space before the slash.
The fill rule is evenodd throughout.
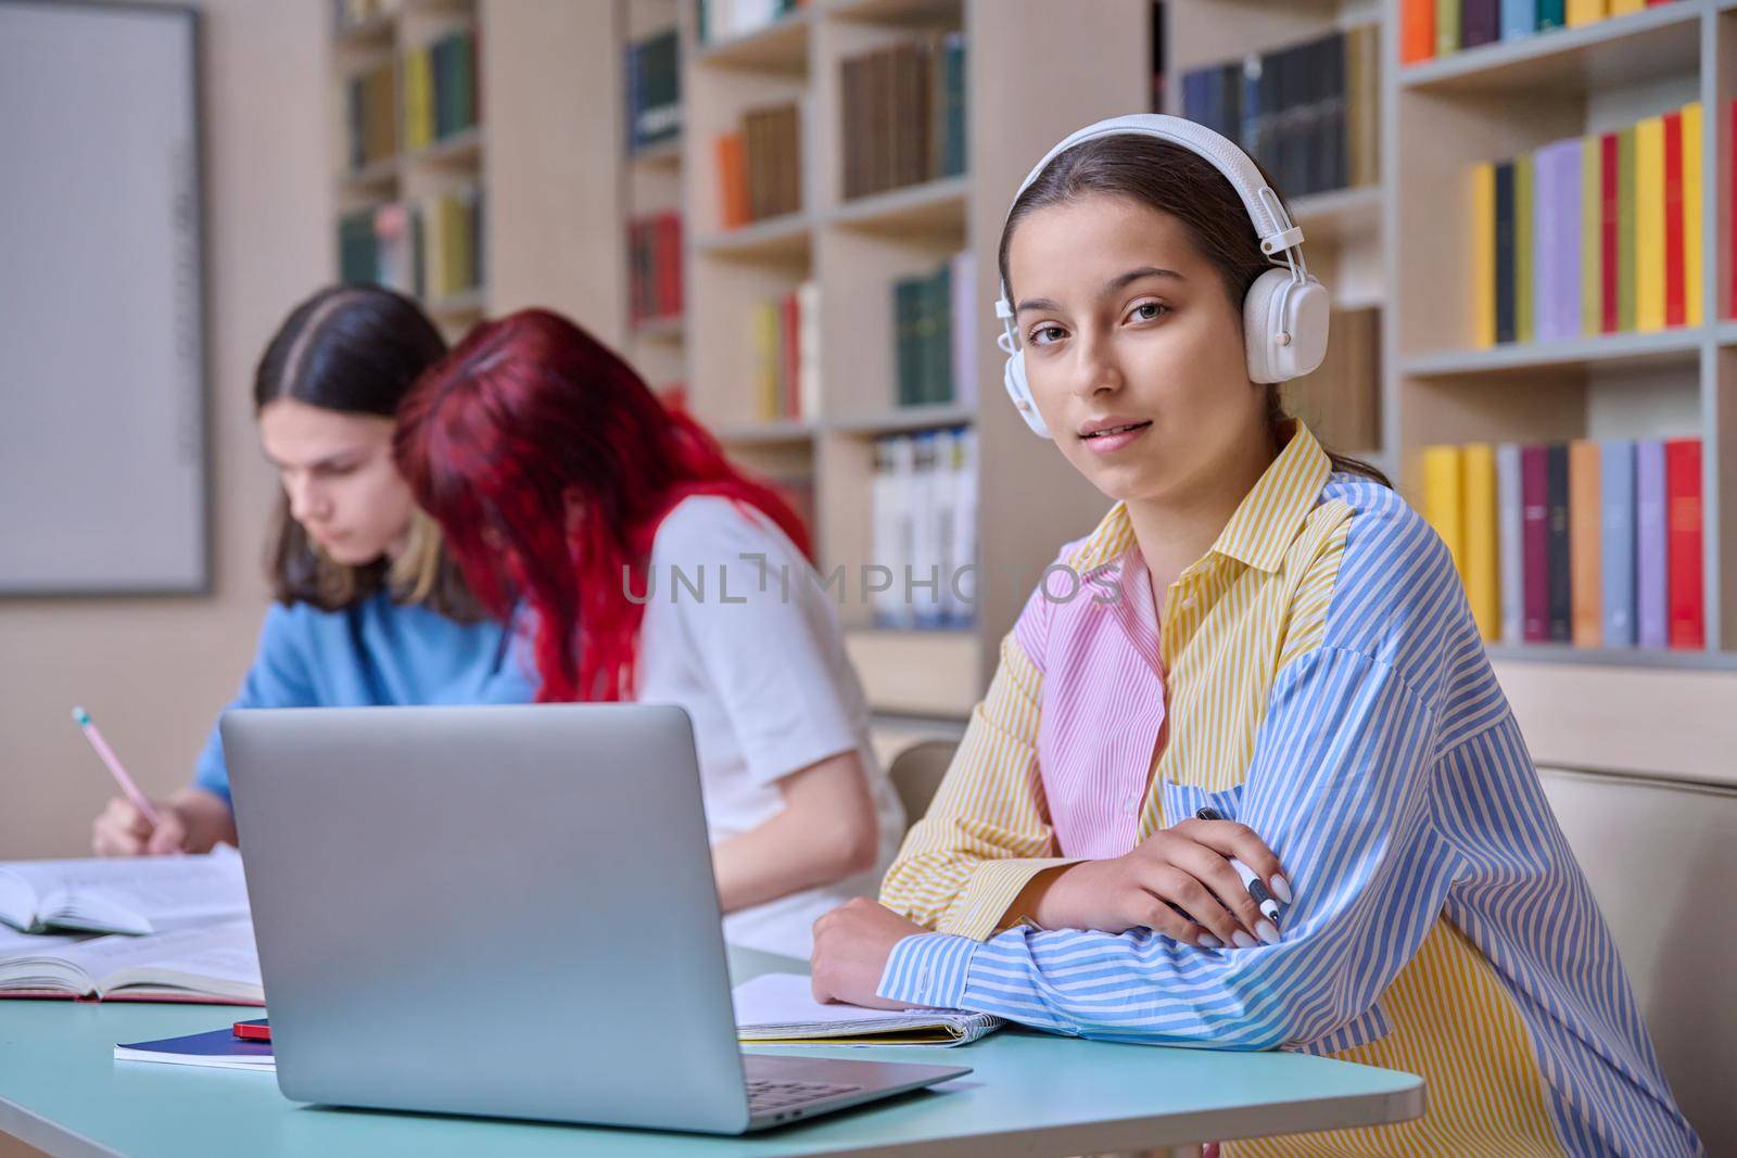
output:
<path id="1" fill-rule="evenodd" d="M 816 924 L 815 993 L 1428 1082 L 1416 1122 L 1244 1155 L 1701 1153 L 1447 549 L 1278 405 L 1327 337 L 1301 241 L 1169 116 L 1025 179 L 1007 391 L 1117 500 L 1058 563 L 1119 599 L 1032 594 L 884 908 Z"/>

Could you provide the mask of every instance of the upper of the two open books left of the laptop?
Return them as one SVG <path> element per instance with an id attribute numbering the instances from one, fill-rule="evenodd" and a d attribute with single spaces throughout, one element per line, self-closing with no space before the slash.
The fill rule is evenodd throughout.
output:
<path id="1" fill-rule="evenodd" d="M 241 856 L 0 863 L 0 920 L 24 932 L 167 932 L 247 917 Z"/>

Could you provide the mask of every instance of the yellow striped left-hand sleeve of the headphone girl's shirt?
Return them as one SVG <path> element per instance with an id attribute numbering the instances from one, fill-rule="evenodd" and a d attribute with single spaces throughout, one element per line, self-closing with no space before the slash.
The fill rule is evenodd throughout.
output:
<path id="1" fill-rule="evenodd" d="M 1042 681 L 1009 632 L 935 802 L 881 884 L 882 905 L 938 932 L 981 941 L 1011 924 L 1002 917 L 1032 877 L 1073 863 L 1053 856 L 1037 774 Z"/>

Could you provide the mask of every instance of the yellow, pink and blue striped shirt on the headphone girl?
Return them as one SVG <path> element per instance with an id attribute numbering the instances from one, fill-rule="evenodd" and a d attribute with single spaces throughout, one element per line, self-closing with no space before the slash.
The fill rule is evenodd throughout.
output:
<path id="1" fill-rule="evenodd" d="M 1002 641 L 882 884 L 936 932 L 895 946 L 881 997 L 1428 1083 L 1417 1122 L 1238 1155 L 1702 1153 L 1423 519 L 1332 474 L 1298 424 L 1162 623 L 1138 559 L 1117 505 L 1061 552 L 1079 592 L 1046 573 Z M 1044 868 L 1119 856 L 1202 806 L 1278 854 L 1296 898 L 1278 944 L 1007 913 Z"/>

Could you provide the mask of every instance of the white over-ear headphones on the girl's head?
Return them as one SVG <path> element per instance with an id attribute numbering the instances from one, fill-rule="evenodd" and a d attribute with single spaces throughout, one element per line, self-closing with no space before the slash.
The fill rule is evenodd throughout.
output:
<path id="1" fill-rule="evenodd" d="M 1049 161 L 1075 144 L 1120 135 L 1155 137 L 1197 153 L 1212 161 L 1212 167 L 1225 174 L 1225 179 L 1242 196 L 1254 233 L 1261 238 L 1261 252 L 1273 262 L 1273 269 L 1256 278 L 1254 285 L 1249 286 L 1249 295 L 1242 300 L 1249 378 L 1252 382 L 1289 382 L 1315 370 L 1327 354 L 1329 299 L 1325 286 L 1310 276 L 1308 264 L 1303 260 L 1303 229 L 1291 222 L 1278 194 L 1261 179 L 1261 170 L 1254 167 L 1249 155 L 1219 134 L 1179 116 L 1160 113 L 1112 116 L 1096 125 L 1086 125 L 1049 149 L 1044 160 L 1037 161 L 1020 182 L 1020 193 L 1025 193 L 1037 181 Z M 1014 194 L 1014 203 L 1018 203 L 1020 193 Z M 1011 207 L 1007 212 L 1013 212 Z M 1002 325 L 995 344 L 1007 354 L 1007 368 L 1002 373 L 1007 396 L 1025 415 L 1025 424 L 1040 438 L 1049 438 L 1049 427 L 1037 413 L 1032 387 L 1025 378 L 1025 351 L 1020 349 L 1020 335 L 1013 326 L 1013 304 L 1007 300 L 1006 283 L 1001 285 L 1001 297 L 995 299 L 995 316 L 1001 318 Z"/>

